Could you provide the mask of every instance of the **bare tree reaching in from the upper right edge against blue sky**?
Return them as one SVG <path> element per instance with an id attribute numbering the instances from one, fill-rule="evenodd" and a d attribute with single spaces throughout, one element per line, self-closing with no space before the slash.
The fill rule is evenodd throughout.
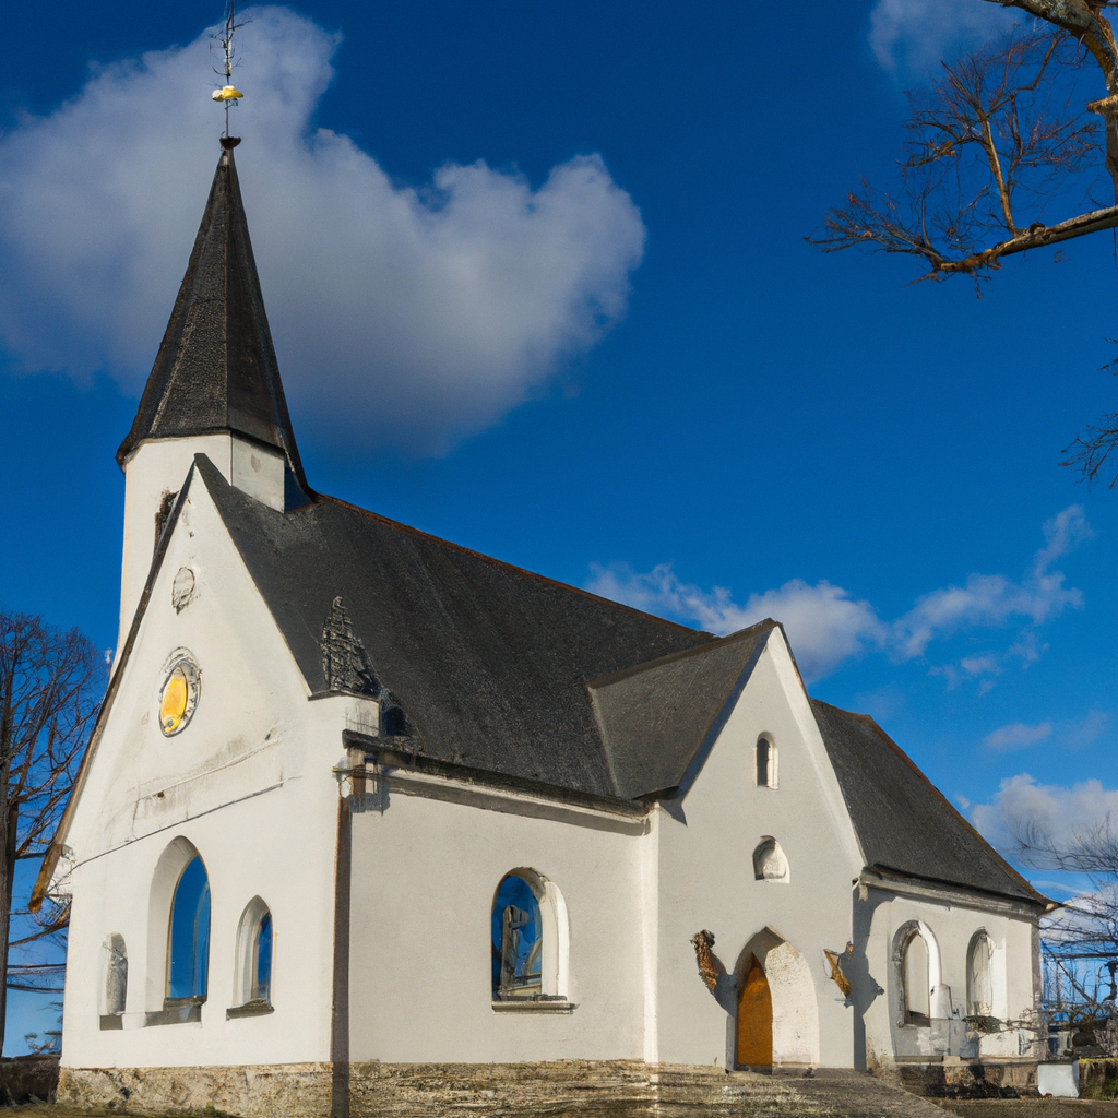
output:
<path id="1" fill-rule="evenodd" d="M 863 183 L 807 239 L 917 258 L 919 280 L 976 284 L 1010 256 L 1118 228 L 1118 44 L 1110 0 L 975 0 L 1033 17 L 1003 42 L 942 64 L 910 94 L 891 191 Z M 1095 172 L 1087 181 L 1084 172 Z M 1106 198 L 1095 198 L 1096 187 Z M 1050 224 L 1053 203 L 1071 216 Z M 1076 212 L 1078 210 L 1078 212 Z M 1111 371 L 1118 369 L 1111 364 Z M 1118 411 L 1088 426 L 1062 463 L 1118 484 Z"/>

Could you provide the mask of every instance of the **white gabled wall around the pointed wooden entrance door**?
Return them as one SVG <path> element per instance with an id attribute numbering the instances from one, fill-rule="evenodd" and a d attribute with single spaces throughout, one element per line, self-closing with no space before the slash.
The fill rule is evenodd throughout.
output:
<path id="1" fill-rule="evenodd" d="M 755 749 L 762 733 L 778 749 L 779 788 L 756 785 Z M 822 949 L 842 950 L 851 938 L 851 883 L 862 861 L 779 632 L 770 634 L 682 811 L 685 822 L 657 808 L 650 836 L 660 866 L 659 1059 L 719 1067 L 732 1060 L 736 993 L 724 980 L 719 997 L 707 989 L 690 939 L 700 929 L 712 931 L 714 954 L 732 974 L 750 939 L 769 928 L 798 953 L 797 966 L 806 967 L 814 986 L 814 1005 L 781 996 L 779 972 L 787 972 L 790 959 L 774 958 L 775 1059 L 851 1067 L 853 1014 L 824 969 Z M 787 882 L 754 878 L 754 850 L 765 835 L 788 859 Z"/>

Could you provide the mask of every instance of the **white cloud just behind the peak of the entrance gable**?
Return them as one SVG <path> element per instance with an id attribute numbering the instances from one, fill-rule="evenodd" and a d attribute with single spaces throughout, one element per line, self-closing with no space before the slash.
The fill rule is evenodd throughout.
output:
<path id="1" fill-rule="evenodd" d="M 826 581 L 809 586 L 793 579 L 778 590 L 750 595 L 739 606 L 724 587 L 707 591 L 682 582 L 667 563 L 644 575 L 597 563 L 591 570 L 587 584 L 591 593 L 648 613 L 695 620 L 710 633 L 724 635 L 766 617 L 776 618 L 784 625 L 806 679 L 826 675 L 843 660 L 879 644 L 884 634 L 868 601 L 855 601 L 842 587 Z"/>

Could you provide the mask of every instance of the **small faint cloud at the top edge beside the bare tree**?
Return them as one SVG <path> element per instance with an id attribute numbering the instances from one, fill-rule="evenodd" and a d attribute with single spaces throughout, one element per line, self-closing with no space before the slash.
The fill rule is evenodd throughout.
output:
<path id="1" fill-rule="evenodd" d="M 1020 12 L 980 0 L 878 0 L 870 15 L 870 47 L 891 74 L 926 70 L 1020 19 Z"/>

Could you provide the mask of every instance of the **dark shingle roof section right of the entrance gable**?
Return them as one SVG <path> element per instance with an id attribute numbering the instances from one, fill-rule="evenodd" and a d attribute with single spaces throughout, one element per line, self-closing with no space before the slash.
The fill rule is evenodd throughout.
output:
<path id="1" fill-rule="evenodd" d="M 812 700 L 866 865 L 1046 904 L 868 714 Z"/>

